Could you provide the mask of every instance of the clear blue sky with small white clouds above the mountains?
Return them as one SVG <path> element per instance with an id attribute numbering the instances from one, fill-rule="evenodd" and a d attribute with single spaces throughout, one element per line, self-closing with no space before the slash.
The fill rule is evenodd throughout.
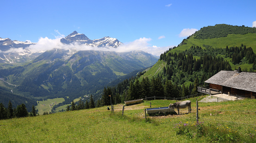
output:
<path id="1" fill-rule="evenodd" d="M 142 41 L 157 56 L 202 27 L 256 26 L 256 0 L 2 0 L 0 13 L 1 38 L 38 42 L 76 30 L 91 40 Z"/>

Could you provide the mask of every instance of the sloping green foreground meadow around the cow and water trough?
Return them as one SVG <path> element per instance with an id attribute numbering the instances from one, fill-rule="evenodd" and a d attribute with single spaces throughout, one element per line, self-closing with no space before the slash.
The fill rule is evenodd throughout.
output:
<path id="1" fill-rule="evenodd" d="M 206 96 L 197 97 L 198 100 Z M 255 143 L 256 100 L 199 103 L 190 98 L 192 111 L 147 116 L 144 109 L 166 107 L 174 100 L 151 100 L 107 107 L 0 120 L 0 143 Z M 19 131 L 19 132 L 17 132 Z"/>

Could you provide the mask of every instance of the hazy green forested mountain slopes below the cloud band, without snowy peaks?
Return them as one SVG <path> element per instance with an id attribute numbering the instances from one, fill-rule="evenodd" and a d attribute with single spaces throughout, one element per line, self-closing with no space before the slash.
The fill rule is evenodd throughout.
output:
<path id="1" fill-rule="evenodd" d="M 97 92 L 111 81 L 156 62 L 144 51 L 45 51 L 24 64 L 1 64 L 0 103 L 32 107 L 36 101 L 63 97 L 70 103 L 90 94 L 99 99 Z"/>

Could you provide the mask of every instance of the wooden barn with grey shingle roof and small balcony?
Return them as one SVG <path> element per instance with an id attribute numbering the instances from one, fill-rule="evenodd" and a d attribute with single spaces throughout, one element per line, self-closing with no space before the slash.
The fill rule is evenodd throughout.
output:
<path id="1" fill-rule="evenodd" d="M 209 84 L 208 91 L 205 92 L 210 91 L 210 94 L 213 91 L 254 99 L 256 96 L 256 73 L 242 72 L 240 67 L 235 71 L 222 70 L 205 83 Z M 198 87 L 198 91 L 202 91 L 202 87 Z"/>

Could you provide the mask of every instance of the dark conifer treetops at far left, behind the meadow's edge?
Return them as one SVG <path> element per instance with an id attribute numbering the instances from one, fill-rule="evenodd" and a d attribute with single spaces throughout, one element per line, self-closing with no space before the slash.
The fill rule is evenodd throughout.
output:
<path id="1" fill-rule="evenodd" d="M 4 107 L 3 103 L 0 103 L 0 120 L 37 115 L 37 110 L 34 105 L 32 106 L 32 111 L 29 113 L 23 103 L 18 105 L 17 108 L 12 107 L 11 101 L 9 101 L 7 108 Z"/>

